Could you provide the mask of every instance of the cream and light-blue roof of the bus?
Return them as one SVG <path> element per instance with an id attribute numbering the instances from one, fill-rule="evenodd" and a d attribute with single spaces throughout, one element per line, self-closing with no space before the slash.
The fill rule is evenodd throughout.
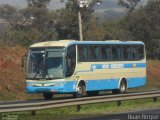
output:
<path id="1" fill-rule="evenodd" d="M 67 47 L 73 44 L 142 44 L 141 41 L 119 41 L 119 40 L 107 40 L 107 41 L 76 41 L 76 40 L 59 40 L 59 41 L 46 41 L 39 42 L 31 45 L 30 47 Z"/>

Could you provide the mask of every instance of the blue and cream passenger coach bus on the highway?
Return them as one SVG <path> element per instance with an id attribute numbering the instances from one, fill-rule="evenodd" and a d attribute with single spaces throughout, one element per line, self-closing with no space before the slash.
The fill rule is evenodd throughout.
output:
<path id="1" fill-rule="evenodd" d="M 30 46 L 26 63 L 27 93 L 74 97 L 146 84 L 146 53 L 141 41 L 40 42 Z"/>

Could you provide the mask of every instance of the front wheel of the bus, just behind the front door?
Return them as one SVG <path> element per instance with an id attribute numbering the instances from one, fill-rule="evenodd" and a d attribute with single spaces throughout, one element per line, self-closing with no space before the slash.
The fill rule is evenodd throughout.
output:
<path id="1" fill-rule="evenodd" d="M 80 98 L 83 97 L 86 94 L 86 87 L 84 84 L 79 83 L 77 92 L 73 93 L 74 98 Z"/>

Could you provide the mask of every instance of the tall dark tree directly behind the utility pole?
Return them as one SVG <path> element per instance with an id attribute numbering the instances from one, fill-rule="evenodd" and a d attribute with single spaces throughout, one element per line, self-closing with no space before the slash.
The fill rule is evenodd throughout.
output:
<path id="1" fill-rule="evenodd" d="M 67 0 L 66 8 L 58 11 L 61 20 L 63 20 L 57 25 L 59 39 L 79 39 L 79 11 L 82 15 L 84 38 L 88 38 L 88 34 L 85 33 L 87 33 L 89 29 L 89 21 L 92 16 L 91 13 L 94 12 L 96 3 L 101 2 L 101 0 L 92 0 L 87 6 L 83 6 L 82 8 L 79 6 L 79 2 L 79 0 Z"/>

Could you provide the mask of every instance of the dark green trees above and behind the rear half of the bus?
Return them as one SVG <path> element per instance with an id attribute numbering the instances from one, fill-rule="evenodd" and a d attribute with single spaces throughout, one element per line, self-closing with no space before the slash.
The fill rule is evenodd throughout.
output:
<path id="1" fill-rule="evenodd" d="M 147 57 L 160 58 L 159 6 L 160 1 L 150 0 L 146 6 L 129 12 L 122 19 L 106 22 L 106 39 L 143 41 L 146 44 Z"/>

